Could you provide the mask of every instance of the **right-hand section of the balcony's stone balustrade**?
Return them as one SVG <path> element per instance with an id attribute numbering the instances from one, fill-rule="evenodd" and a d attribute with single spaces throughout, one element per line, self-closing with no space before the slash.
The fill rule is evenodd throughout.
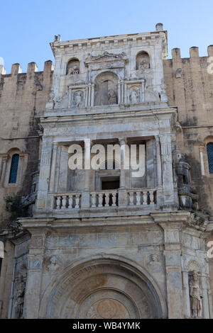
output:
<path id="1" fill-rule="evenodd" d="M 128 205 L 155 205 L 156 192 L 155 188 L 134 188 L 128 190 Z"/>

